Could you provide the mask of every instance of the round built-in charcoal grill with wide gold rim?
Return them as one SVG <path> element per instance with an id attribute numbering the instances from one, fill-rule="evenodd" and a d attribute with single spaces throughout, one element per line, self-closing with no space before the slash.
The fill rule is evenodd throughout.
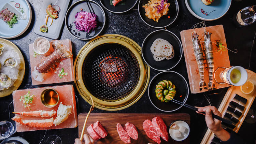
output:
<path id="1" fill-rule="evenodd" d="M 105 71 L 103 64 L 115 65 Z M 141 56 L 141 47 L 118 34 L 101 35 L 86 43 L 74 63 L 75 85 L 80 95 L 95 107 L 116 111 L 137 102 L 145 92 L 150 68 Z"/>

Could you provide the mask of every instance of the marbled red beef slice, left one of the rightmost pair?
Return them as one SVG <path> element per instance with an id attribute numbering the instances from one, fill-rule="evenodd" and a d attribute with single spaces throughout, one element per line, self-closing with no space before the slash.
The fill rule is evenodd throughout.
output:
<path id="1" fill-rule="evenodd" d="M 152 139 L 153 141 L 155 141 L 156 143 L 160 144 L 161 140 L 160 140 L 160 136 L 158 136 L 155 127 L 153 126 L 153 124 L 151 123 L 151 121 L 149 119 L 145 120 L 143 122 L 143 129 L 146 132 L 148 138 Z"/>

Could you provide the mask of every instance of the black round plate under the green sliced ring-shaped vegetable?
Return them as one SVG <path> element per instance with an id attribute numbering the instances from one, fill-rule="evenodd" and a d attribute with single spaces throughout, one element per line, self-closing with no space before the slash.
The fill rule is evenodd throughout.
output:
<path id="1" fill-rule="evenodd" d="M 178 109 L 180 109 L 182 106 L 179 104 L 176 104 L 174 102 L 161 102 L 156 97 L 156 85 L 163 81 L 163 80 L 169 80 L 171 81 L 175 87 L 176 87 L 176 95 L 174 97 L 175 100 L 181 101 L 183 103 L 186 103 L 188 98 L 188 84 L 185 78 L 174 71 L 164 71 L 158 73 L 153 79 L 151 80 L 149 86 L 148 86 L 148 97 L 150 98 L 151 103 L 160 111 L 163 112 L 173 112 Z M 180 97 L 182 96 L 182 97 Z"/>

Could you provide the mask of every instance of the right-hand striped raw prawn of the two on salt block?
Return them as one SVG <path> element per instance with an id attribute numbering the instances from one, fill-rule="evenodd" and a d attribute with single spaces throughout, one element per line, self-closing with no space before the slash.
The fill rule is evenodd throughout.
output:
<path id="1" fill-rule="evenodd" d="M 214 61 L 213 61 L 213 52 L 212 52 L 212 42 L 211 42 L 211 34 L 209 31 L 204 30 L 204 53 L 208 65 L 208 73 L 209 73 L 209 83 L 208 90 L 216 89 L 216 86 L 213 82 L 213 72 L 214 72 Z"/>

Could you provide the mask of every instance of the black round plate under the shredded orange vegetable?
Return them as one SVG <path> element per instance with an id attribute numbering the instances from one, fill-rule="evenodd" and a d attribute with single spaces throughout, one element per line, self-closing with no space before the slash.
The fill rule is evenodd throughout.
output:
<path id="1" fill-rule="evenodd" d="M 154 21 L 153 19 L 149 19 L 145 16 L 145 9 L 142 8 L 143 5 L 147 4 L 148 0 L 140 0 L 138 5 L 139 15 L 141 19 L 146 23 L 147 25 L 154 27 L 154 28 L 164 28 L 169 25 L 171 25 L 174 20 L 177 18 L 179 14 L 179 4 L 177 0 L 168 0 L 168 3 L 170 3 L 169 11 L 167 15 L 163 15 L 159 20 L 158 23 Z M 168 18 L 170 16 L 170 18 Z"/>

